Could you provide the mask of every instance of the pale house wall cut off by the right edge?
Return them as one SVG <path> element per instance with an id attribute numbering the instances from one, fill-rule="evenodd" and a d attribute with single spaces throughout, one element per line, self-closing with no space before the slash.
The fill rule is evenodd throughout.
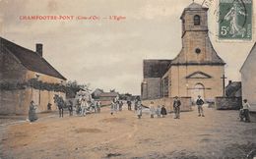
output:
<path id="1" fill-rule="evenodd" d="M 242 98 L 247 99 L 251 111 L 256 112 L 256 42 L 243 63 L 240 73 L 242 81 Z"/>

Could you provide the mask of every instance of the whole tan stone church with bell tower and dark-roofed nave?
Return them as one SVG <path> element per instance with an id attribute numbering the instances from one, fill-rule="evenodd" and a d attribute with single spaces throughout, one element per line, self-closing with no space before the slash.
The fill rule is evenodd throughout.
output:
<path id="1" fill-rule="evenodd" d="M 206 101 L 224 94 L 224 60 L 214 49 L 208 30 L 208 8 L 197 3 L 184 9 L 182 48 L 172 60 L 144 60 L 142 100 L 201 95 Z"/>

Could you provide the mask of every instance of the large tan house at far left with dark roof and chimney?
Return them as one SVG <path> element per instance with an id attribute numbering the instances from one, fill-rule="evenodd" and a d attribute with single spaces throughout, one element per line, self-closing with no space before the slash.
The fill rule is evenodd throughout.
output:
<path id="1" fill-rule="evenodd" d="M 33 100 L 36 112 L 56 110 L 53 96 L 65 99 L 66 79 L 35 51 L 0 37 L 0 114 L 28 114 Z"/>

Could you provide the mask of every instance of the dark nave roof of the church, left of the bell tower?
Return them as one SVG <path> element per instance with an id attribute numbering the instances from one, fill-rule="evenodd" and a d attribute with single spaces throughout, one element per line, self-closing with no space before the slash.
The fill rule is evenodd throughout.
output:
<path id="1" fill-rule="evenodd" d="M 169 69 L 171 60 L 144 60 L 144 78 L 161 78 Z"/>

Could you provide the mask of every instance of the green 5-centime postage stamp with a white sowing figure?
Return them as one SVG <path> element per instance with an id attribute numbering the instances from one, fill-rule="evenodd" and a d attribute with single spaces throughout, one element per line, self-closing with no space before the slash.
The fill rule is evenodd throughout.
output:
<path id="1" fill-rule="evenodd" d="M 219 0 L 219 39 L 252 39 L 252 1 Z"/>

